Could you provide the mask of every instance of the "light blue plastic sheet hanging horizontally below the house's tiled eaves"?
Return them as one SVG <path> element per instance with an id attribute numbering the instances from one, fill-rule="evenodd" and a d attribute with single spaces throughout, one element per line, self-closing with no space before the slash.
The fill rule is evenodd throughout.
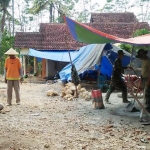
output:
<path id="1" fill-rule="evenodd" d="M 38 51 L 34 49 L 29 49 L 29 56 L 34 56 L 38 58 L 50 59 L 54 61 L 70 62 L 68 51 Z M 78 55 L 78 51 L 70 51 L 71 59 L 75 59 Z"/>

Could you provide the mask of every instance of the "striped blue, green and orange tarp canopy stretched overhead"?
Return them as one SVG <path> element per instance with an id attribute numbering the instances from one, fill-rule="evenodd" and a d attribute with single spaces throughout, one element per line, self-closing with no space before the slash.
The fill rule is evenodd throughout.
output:
<path id="1" fill-rule="evenodd" d="M 112 42 L 128 43 L 133 45 L 150 45 L 150 34 L 135 38 L 123 39 L 113 36 L 92 27 L 76 22 L 64 16 L 68 29 L 74 40 L 90 44 L 104 44 Z"/>

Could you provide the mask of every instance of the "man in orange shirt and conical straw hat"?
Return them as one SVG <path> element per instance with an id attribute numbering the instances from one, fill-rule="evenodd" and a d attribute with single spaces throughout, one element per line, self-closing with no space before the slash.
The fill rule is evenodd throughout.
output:
<path id="1" fill-rule="evenodd" d="M 19 80 L 23 81 L 23 73 L 21 63 L 18 57 L 15 57 L 18 53 L 10 48 L 5 54 L 9 55 L 5 60 L 5 83 L 7 83 L 7 105 L 12 104 L 12 89 L 14 88 L 16 94 L 16 103 L 20 105 L 20 86 Z"/>

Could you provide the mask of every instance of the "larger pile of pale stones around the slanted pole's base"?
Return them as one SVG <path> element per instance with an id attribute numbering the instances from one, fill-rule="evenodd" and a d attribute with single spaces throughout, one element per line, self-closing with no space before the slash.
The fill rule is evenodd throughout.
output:
<path id="1" fill-rule="evenodd" d="M 80 84 L 77 86 L 77 94 L 79 98 L 85 100 L 91 99 L 91 92 L 88 92 L 85 88 L 82 88 Z M 61 97 L 68 101 L 75 99 L 77 97 L 75 85 L 71 82 L 67 83 L 62 89 Z"/>

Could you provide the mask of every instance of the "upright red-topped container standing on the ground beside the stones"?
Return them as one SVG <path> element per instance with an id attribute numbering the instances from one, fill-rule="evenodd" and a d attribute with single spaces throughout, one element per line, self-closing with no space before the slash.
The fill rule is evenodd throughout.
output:
<path id="1" fill-rule="evenodd" d="M 101 90 L 92 90 L 92 106 L 94 109 L 104 109 L 103 97 Z"/>

